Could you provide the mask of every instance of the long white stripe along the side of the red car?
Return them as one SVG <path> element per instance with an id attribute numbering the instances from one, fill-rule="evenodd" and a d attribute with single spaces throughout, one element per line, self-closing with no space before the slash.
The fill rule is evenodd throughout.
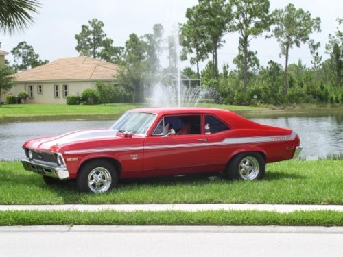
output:
<path id="1" fill-rule="evenodd" d="M 64 154 L 90 154 L 100 153 L 106 151 L 139 151 L 139 150 L 151 150 L 151 149 L 170 149 L 170 148 L 184 148 L 184 147 L 207 147 L 212 145 L 235 145 L 242 143 L 268 143 L 268 142 L 280 142 L 289 141 L 296 138 L 296 132 L 292 132 L 290 135 L 282 136 L 253 136 L 243 138 L 225 138 L 221 142 L 213 143 L 193 143 L 193 144 L 180 144 L 180 145 L 148 145 L 141 147 L 116 147 L 116 148 L 102 148 L 102 149 L 84 149 L 65 151 Z"/>

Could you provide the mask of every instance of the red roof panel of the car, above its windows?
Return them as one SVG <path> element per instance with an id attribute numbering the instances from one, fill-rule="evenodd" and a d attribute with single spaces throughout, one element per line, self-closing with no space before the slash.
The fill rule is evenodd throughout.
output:
<path id="1" fill-rule="evenodd" d="M 185 113 L 230 113 L 228 110 L 206 107 L 150 107 L 137 108 L 129 112 L 151 112 L 155 114 L 185 114 Z"/>

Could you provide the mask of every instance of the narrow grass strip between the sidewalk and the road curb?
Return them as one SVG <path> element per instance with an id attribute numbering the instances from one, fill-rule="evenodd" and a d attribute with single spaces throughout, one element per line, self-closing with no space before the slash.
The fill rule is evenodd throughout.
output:
<path id="1" fill-rule="evenodd" d="M 0 212 L 0 225 L 325 225 L 342 226 L 343 212 Z"/>

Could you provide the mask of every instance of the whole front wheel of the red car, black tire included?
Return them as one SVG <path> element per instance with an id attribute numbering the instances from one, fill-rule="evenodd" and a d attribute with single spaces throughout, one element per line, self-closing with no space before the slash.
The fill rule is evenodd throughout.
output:
<path id="1" fill-rule="evenodd" d="M 88 180 L 90 183 L 93 182 L 93 186 L 88 184 Z M 118 173 L 115 167 L 113 167 L 113 164 L 107 160 L 92 160 L 87 162 L 80 169 L 78 178 L 76 179 L 76 186 L 81 192 L 104 193 L 115 188 L 117 184 Z"/>

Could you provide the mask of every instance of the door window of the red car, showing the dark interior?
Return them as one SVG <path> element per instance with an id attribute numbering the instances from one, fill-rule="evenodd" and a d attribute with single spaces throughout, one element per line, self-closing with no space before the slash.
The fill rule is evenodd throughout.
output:
<path id="1" fill-rule="evenodd" d="M 158 123 L 152 136 L 201 134 L 200 115 L 167 116 Z"/>

